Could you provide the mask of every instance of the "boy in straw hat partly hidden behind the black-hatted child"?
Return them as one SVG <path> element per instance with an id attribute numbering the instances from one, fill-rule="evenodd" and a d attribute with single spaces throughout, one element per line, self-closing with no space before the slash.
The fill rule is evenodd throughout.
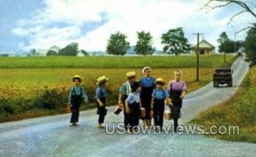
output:
<path id="1" fill-rule="evenodd" d="M 123 84 L 123 86 L 119 90 L 119 107 L 124 108 L 124 123 L 125 130 L 128 131 L 128 122 L 129 122 L 129 114 L 126 113 L 125 109 L 125 99 L 128 97 L 129 93 L 131 93 L 131 85 L 137 79 L 137 74 L 135 71 L 131 71 L 126 73 L 127 81 Z"/>

